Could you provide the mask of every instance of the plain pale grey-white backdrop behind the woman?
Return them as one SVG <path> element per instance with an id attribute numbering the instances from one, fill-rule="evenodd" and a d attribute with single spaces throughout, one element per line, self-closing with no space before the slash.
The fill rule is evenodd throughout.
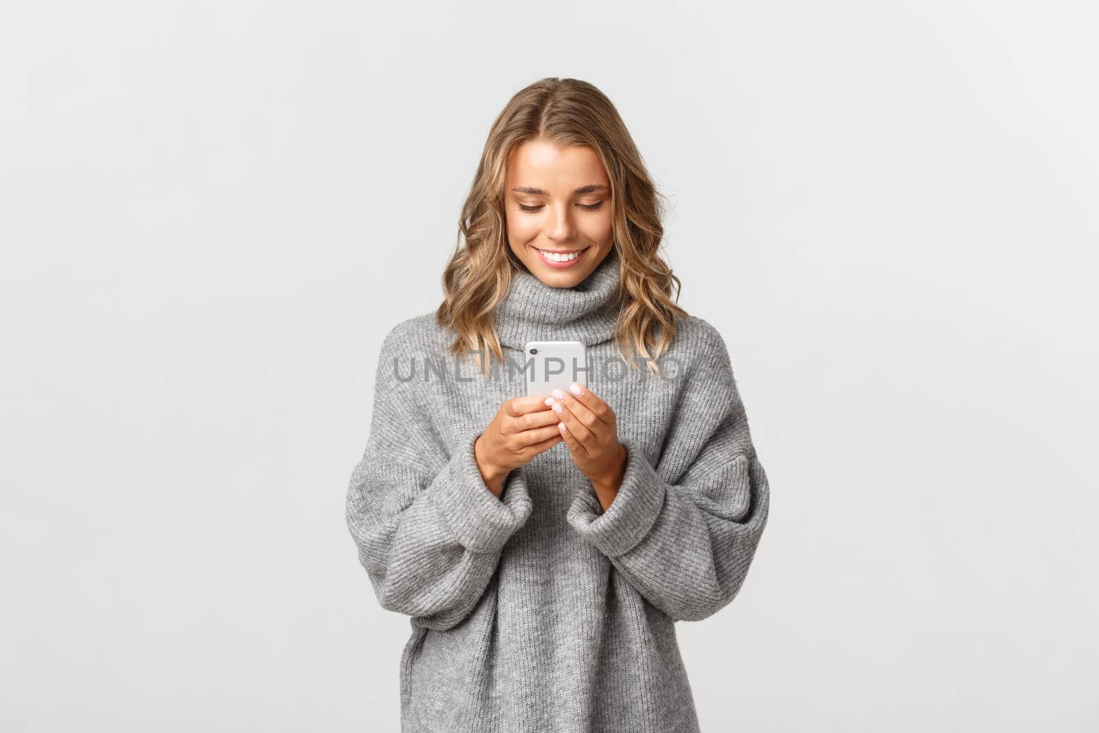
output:
<path id="1" fill-rule="evenodd" d="M 489 125 L 615 103 L 771 513 L 710 731 L 1095 731 L 1089 2 L 0 3 L 4 731 L 396 731 L 344 523 Z"/>

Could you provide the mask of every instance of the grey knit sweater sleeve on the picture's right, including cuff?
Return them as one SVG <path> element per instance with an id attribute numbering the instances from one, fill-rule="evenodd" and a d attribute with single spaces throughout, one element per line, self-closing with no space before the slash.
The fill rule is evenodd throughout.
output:
<path id="1" fill-rule="evenodd" d="M 690 369 L 659 470 L 631 438 L 622 485 L 602 511 L 593 491 L 569 507 L 569 524 L 650 603 L 699 621 L 740 591 L 767 523 L 770 490 L 721 335 Z M 696 365 L 698 367 L 699 365 Z"/>

